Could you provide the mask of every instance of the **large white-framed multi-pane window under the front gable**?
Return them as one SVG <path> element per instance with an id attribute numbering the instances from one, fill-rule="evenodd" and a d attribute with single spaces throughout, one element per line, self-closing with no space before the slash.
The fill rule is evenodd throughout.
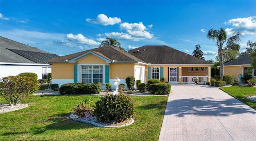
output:
<path id="1" fill-rule="evenodd" d="M 84 83 L 103 83 L 103 65 L 81 65 L 81 82 Z"/>

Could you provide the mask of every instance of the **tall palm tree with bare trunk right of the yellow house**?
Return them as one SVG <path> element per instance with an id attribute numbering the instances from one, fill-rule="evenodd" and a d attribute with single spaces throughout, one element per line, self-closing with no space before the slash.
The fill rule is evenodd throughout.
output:
<path id="1" fill-rule="evenodd" d="M 210 29 L 207 32 L 207 38 L 216 42 L 216 46 L 218 46 L 218 55 L 220 58 L 220 79 L 223 80 L 223 52 L 222 48 L 223 44 L 226 42 L 226 45 L 234 44 L 241 42 L 242 34 L 239 32 L 234 32 L 233 36 L 227 39 L 227 34 L 224 28 L 220 28 L 220 30 Z"/>

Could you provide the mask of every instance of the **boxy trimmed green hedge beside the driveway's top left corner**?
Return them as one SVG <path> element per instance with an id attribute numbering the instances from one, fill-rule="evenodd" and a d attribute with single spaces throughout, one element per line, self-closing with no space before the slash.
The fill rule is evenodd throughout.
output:
<path id="1" fill-rule="evenodd" d="M 148 85 L 148 90 L 152 94 L 169 94 L 171 92 L 171 84 L 168 83 L 155 83 Z"/>

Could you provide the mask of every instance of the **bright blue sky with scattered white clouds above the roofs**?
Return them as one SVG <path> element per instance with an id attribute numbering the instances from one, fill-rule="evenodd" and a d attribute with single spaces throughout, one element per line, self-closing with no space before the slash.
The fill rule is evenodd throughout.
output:
<path id="1" fill-rule="evenodd" d="M 245 50 L 256 42 L 256 1 L 0 1 L 0 36 L 60 56 L 111 37 L 126 50 L 166 45 L 192 54 L 199 44 L 215 60 L 211 28 L 225 28 L 228 37 L 239 31 Z"/>

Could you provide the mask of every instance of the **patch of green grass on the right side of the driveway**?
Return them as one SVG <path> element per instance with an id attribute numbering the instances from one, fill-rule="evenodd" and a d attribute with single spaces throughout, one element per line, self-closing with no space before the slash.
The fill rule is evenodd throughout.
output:
<path id="1" fill-rule="evenodd" d="M 240 85 L 233 85 L 231 87 L 220 87 L 222 91 L 230 94 L 232 97 L 256 109 L 256 101 L 247 100 L 246 97 L 256 95 L 256 87 L 243 87 Z"/>

